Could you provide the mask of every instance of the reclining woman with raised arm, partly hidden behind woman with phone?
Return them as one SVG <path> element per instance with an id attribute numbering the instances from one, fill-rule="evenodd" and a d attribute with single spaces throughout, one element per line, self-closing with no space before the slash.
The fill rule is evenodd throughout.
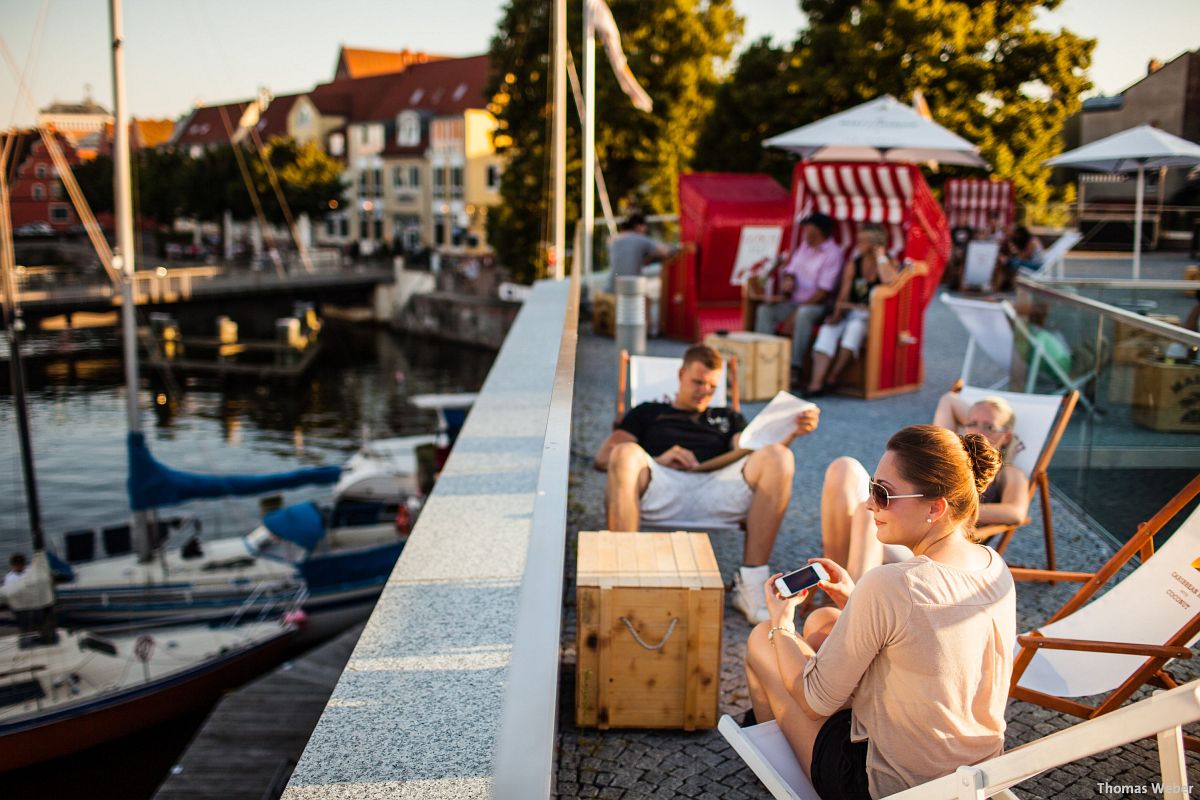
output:
<path id="1" fill-rule="evenodd" d="M 1003 465 L 979 497 L 977 525 L 1019 524 L 1030 507 L 1030 479 L 1008 463 L 1021 446 L 1013 435 L 1016 415 L 1002 397 L 984 397 L 973 405 L 958 392 L 942 396 L 934 425 L 955 433 L 977 433 L 1000 451 Z M 842 456 L 826 469 L 821 491 L 821 545 L 824 557 L 841 564 L 853 579 L 880 564 L 902 561 L 912 555 L 902 547 L 886 545 L 876 536 L 875 521 L 866 510 L 870 476 L 856 459 Z"/>

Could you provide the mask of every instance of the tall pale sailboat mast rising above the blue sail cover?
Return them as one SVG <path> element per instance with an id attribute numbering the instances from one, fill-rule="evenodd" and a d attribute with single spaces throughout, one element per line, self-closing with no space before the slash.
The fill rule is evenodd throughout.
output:
<path id="1" fill-rule="evenodd" d="M 130 113 L 125 102 L 125 42 L 121 26 L 121 0 L 109 0 L 109 24 L 113 35 L 113 212 L 116 222 L 116 253 L 113 266 L 121 275 L 121 338 L 125 349 L 125 393 L 130 433 L 142 431 L 138 410 L 138 329 L 133 305 L 133 270 L 137 260 L 133 246 L 133 194 L 130 178 Z M 133 541 L 138 559 L 152 558 L 145 512 L 133 512 Z"/>

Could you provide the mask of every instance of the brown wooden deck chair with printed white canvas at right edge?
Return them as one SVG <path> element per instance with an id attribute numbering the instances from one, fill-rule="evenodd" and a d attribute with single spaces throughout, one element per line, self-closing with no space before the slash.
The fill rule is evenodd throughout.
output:
<path id="1" fill-rule="evenodd" d="M 1154 535 L 1198 494 L 1200 476 L 1093 575 L 1013 570 L 1013 577 L 1087 583 L 1044 626 L 1016 638 L 1010 697 L 1096 717 L 1122 705 L 1144 684 L 1177 685 L 1163 667 L 1192 657 L 1189 648 L 1200 638 L 1200 510 L 1157 553 Z M 1139 553 L 1141 566 L 1093 600 Z M 1106 697 L 1098 705 L 1070 699 L 1100 694 Z M 1187 745 L 1200 751 L 1198 739 Z"/>

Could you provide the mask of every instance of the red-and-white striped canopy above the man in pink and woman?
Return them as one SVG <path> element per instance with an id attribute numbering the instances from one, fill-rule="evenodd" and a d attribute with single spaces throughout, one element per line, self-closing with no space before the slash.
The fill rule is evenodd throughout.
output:
<path id="1" fill-rule="evenodd" d="M 887 229 L 894 258 L 925 261 L 930 285 L 941 279 L 950 254 L 949 225 L 917 166 L 802 162 L 792 176 L 792 198 L 793 248 L 799 242 L 799 221 L 814 211 L 833 217 L 834 240 L 847 254 L 858 225 L 874 222 Z"/>

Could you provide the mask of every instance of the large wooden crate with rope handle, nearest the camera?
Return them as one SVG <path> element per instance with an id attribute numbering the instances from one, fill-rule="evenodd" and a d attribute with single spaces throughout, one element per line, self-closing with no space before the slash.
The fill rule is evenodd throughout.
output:
<path id="1" fill-rule="evenodd" d="M 706 534 L 581 531 L 576 609 L 578 726 L 716 727 L 725 587 Z"/>

